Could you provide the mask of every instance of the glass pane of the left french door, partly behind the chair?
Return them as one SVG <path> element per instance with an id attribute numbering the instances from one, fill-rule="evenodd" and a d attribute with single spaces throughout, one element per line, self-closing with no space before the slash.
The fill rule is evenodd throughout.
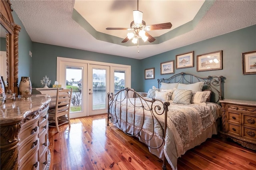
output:
<path id="1" fill-rule="evenodd" d="M 66 66 L 66 88 L 73 88 L 70 113 L 82 111 L 82 67 Z"/>

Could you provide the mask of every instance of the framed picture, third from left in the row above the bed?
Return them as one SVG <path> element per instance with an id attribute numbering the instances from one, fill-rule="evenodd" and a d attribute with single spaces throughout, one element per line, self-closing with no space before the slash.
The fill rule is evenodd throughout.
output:
<path id="1" fill-rule="evenodd" d="M 176 55 L 176 69 L 194 67 L 194 51 Z"/>

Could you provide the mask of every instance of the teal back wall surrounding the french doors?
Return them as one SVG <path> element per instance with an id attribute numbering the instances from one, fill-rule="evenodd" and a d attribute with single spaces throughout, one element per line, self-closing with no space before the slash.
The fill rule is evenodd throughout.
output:
<path id="1" fill-rule="evenodd" d="M 138 83 L 141 77 L 137 74 L 140 70 L 140 60 L 128 57 L 120 57 L 80 49 L 49 45 L 33 42 L 33 62 L 32 62 L 32 87 L 42 87 L 40 80 L 47 75 L 54 83 L 56 81 L 57 57 L 66 57 L 73 59 L 84 59 L 90 61 L 100 61 L 106 63 L 116 63 L 131 65 L 132 88 L 140 89 Z"/>

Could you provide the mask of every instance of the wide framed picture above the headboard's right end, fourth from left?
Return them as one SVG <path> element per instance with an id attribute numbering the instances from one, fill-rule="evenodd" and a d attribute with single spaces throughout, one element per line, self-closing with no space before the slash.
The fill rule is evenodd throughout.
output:
<path id="1" fill-rule="evenodd" d="M 222 51 L 197 56 L 196 71 L 212 71 L 222 69 Z"/>

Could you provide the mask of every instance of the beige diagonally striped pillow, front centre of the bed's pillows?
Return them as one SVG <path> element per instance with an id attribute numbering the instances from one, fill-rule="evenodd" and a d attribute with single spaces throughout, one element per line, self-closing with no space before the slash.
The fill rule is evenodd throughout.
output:
<path id="1" fill-rule="evenodd" d="M 192 91 L 191 90 L 177 90 L 173 103 L 179 103 L 183 105 L 190 105 Z"/>

